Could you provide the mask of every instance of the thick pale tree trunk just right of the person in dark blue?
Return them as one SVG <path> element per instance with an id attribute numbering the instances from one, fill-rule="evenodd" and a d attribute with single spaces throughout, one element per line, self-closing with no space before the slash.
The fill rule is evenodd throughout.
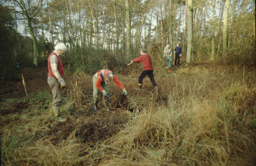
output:
<path id="1" fill-rule="evenodd" d="M 191 63 L 191 57 L 193 56 L 193 0 L 188 0 L 188 51 L 186 62 Z"/>

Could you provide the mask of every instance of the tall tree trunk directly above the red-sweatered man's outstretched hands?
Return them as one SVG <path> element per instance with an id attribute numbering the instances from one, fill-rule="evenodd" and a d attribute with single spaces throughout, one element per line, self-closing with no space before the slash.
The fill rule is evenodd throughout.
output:
<path id="1" fill-rule="evenodd" d="M 129 10 L 129 0 L 125 0 L 125 19 L 126 19 L 126 59 L 131 57 L 131 19 Z"/>

